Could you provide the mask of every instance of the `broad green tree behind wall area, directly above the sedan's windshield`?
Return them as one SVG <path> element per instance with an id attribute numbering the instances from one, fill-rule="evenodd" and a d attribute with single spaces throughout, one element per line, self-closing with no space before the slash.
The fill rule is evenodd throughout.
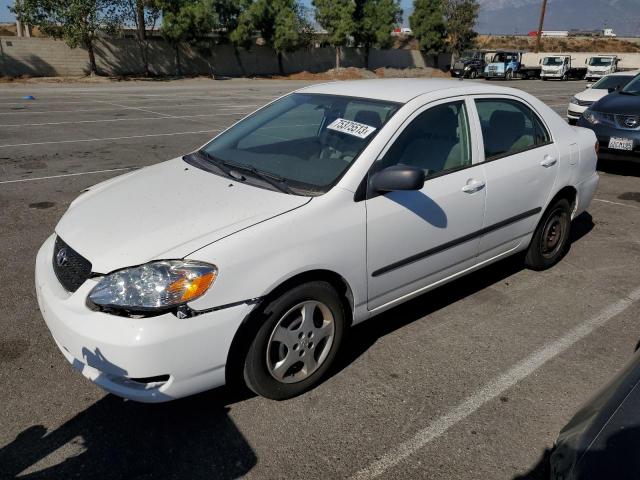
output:
<path id="1" fill-rule="evenodd" d="M 238 17 L 231 39 L 237 45 L 250 48 L 254 32 L 259 32 L 265 44 L 275 50 L 278 68 L 284 73 L 282 54 L 308 43 L 309 30 L 304 9 L 296 0 L 256 0 Z"/>

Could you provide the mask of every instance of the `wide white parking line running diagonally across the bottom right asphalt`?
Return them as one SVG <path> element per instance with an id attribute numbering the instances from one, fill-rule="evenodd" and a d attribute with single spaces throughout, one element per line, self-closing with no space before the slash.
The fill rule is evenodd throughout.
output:
<path id="1" fill-rule="evenodd" d="M 508 371 L 486 384 L 465 401 L 437 418 L 426 428 L 418 431 L 411 439 L 402 442 L 389 450 L 379 460 L 371 463 L 351 477 L 356 479 L 370 479 L 383 474 L 389 468 L 397 465 L 405 458 L 420 450 L 429 442 L 443 435 L 458 422 L 466 419 L 487 402 L 501 395 L 504 391 L 516 385 L 533 372 L 542 367 L 549 360 L 560 355 L 568 348 L 603 326 L 616 315 L 622 313 L 634 302 L 640 300 L 640 287 L 633 290 L 625 298 L 612 303 L 595 317 L 578 325 L 557 340 L 548 343 L 524 360 L 520 361 Z"/>

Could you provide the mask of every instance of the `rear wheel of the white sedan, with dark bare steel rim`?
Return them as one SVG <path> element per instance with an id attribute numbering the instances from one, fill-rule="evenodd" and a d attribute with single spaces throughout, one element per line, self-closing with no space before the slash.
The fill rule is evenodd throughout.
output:
<path id="1" fill-rule="evenodd" d="M 556 200 L 540 219 L 529 244 L 525 265 L 531 270 L 553 267 L 569 250 L 571 205 L 566 198 Z"/>

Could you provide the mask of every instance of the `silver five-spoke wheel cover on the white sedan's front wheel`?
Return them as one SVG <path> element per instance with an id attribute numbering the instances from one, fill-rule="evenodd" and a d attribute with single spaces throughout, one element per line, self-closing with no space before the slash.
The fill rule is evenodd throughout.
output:
<path id="1" fill-rule="evenodd" d="M 324 363 L 333 345 L 335 320 L 329 307 L 307 300 L 276 324 L 267 343 L 267 369 L 282 383 L 300 382 Z"/>

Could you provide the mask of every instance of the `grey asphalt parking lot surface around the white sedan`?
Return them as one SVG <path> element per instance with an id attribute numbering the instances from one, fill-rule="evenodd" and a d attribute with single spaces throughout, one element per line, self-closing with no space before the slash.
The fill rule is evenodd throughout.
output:
<path id="1" fill-rule="evenodd" d="M 509 259 L 354 328 L 331 376 L 299 398 L 222 388 L 136 404 L 59 353 L 33 268 L 78 193 L 303 84 L 0 86 L 0 478 L 546 478 L 559 429 L 640 340 L 637 165 L 599 165 L 558 266 Z M 562 113 L 583 82 L 510 86 Z"/>

